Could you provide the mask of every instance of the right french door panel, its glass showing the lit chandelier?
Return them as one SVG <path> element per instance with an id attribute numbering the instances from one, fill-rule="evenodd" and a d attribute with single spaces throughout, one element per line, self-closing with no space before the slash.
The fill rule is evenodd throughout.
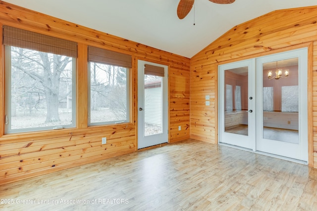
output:
<path id="1" fill-rule="evenodd" d="M 257 59 L 258 151 L 308 161 L 307 61 L 307 48 Z"/>

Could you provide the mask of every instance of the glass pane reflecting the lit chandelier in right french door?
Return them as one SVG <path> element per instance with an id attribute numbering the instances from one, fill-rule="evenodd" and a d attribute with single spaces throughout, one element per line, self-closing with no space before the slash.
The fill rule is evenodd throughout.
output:
<path id="1" fill-rule="evenodd" d="M 299 143 L 298 58 L 263 63 L 263 138 Z"/>

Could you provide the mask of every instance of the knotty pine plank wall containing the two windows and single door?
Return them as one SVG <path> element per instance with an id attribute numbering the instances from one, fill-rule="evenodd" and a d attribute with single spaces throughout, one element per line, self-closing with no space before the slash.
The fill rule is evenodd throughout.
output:
<path id="1" fill-rule="evenodd" d="M 4 1 L 0 1 L 1 28 L 2 25 L 78 42 L 79 96 L 76 128 L 3 134 L 4 72 L 1 48 L 0 184 L 135 152 L 138 59 L 169 66 L 169 142 L 189 138 L 189 58 L 101 33 Z M 0 36 L 1 34 L 2 30 Z M 87 45 L 132 55 L 130 123 L 87 127 Z M 182 127 L 181 131 L 178 131 L 178 126 Z M 101 145 L 102 137 L 107 137 L 106 145 Z"/>

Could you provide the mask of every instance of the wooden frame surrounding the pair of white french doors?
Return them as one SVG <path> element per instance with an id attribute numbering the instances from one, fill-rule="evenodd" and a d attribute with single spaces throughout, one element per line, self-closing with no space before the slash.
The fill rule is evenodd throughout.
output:
<path id="1" fill-rule="evenodd" d="M 302 163 L 302 164 L 308 164 L 308 166 L 310 167 L 314 167 L 314 155 L 313 155 L 313 145 L 314 145 L 314 138 L 313 138 L 313 119 L 309 118 L 313 116 L 313 43 L 312 42 L 308 42 L 308 43 L 302 43 L 302 44 L 297 44 L 297 45 L 293 45 L 293 46 L 288 46 L 285 47 L 283 49 L 275 49 L 275 50 L 271 50 L 269 52 L 262 52 L 262 53 L 257 53 L 257 54 L 253 54 L 250 56 L 245 56 L 242 58 L 236 58 L 236 59 L 232 59 L 230 61 L 224 61 L 224 62 L 218 62 L 215 66 L 215 72 L 216 72 L 216 77 L 217 77 L 217 82 L 216 82 L 216 99 L 217 101 L 219 100 L 220 97 L 220 93 L 219 93 L 219 87 L 220 87 L 220 81 L 219 81 L 219 66 L 220 65 L 224 65 L 224 64 L 229 64 L 229 63 L 233 63 L 233 62 L 237 62 L 237 61 L 243 61 L 243 60 L 248 60 L 248 59 L 256 59 L 256 58 L 261 58 L 264 56 L 269 56 L 269 55 L 273 55 L 273 54 L 278 54 L 278 53 L 283 53 L 283 52 L 287 52 L 287 51 L 292 51 L 292 50 L 300 50 L 301 48 L 307 48 L 307 55 L 308 55 L 308 62 L 307 62 L 307 109 L 308 109 L 308 126 L 307 126 L 307 145 L 308 145 L 308 161 L 307 162 L 302 162 L 302 161 L 298 161 L 298 160 L 294 160 L 294 159 L 288 159 L 288 158 L 284 158 L 281 156 L 277 156 L 277 155 L 272 155 L 272 154 L 268 154 L 268 153 L 262 153 L 259 151 L 253 151 L 255 153 L 258 154 L 264 154 L 267 156 L 271 156 L 271 157 L 277 157 L 280 159 L 285 159 L 285 160 L 290 160 L 290 161 L 294 161 L 294 162 L 298 162 L 298 163 Z M 220 113 L 221 113 L 221 107 L 219 106 L 219 101 L 217 102 L 217 109 L 216 109 L 216 131 L 217 133 L 215 134 L 215 138 L 217 141 L 215 141 L 216 144 L 222 144 L 219 140 L 220 140 Z M 255 141 L 256 142 L 256 141 Z M 223 144 L 226 145 L 226 144 Z M 230 145 L 229 145 L 230 146 Z M 235 147 L 235 146 L 231 146 L 231 147 Z M 238 149 L 243 149 L 241 147 L 236 147 Z M 255 143 L 255 149 L 256 149 L 256 143 Z M 246 149 L 248 150 L 248 149 Z M 252 151 L 252 150 L 248 150 L 248 151 Z"/>

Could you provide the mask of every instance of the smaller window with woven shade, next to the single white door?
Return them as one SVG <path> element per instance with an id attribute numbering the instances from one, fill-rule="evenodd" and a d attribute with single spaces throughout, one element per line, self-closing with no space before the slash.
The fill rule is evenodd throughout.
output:
<path id="1" fill-rule="evenodd" d="M 88 124 L 94 126 L 129 122 L 131 56 L 89 46 L 88 61 Z"/>

